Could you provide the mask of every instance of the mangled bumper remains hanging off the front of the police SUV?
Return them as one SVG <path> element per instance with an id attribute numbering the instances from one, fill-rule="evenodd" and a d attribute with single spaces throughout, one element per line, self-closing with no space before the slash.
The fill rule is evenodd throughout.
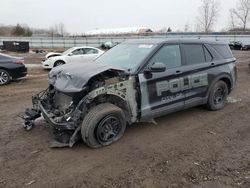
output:
<path id="1" fill-rule="evenodd" d="M 24 128 L 28 131 L 34 127 L 34 122 L 41 116 L 47 124 L 53 129 L 54 139 L 50 147 L 72 147 L 80 138 L 80 111 L 74 110 L 68 118 L 57 117 L 50 112 L 47 95 L 45 90 L 32 97 L 33 108 L 25 110 L 20 117 L 24 120 Z"/>

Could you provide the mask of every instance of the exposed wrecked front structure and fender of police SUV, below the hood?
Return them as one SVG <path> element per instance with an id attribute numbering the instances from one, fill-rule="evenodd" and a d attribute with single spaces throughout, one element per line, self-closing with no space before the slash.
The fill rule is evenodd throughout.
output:
<path id="1" fill-rule="evenodd" d="M 136 78 L 129 76 L 122 81 L 114 79 L 116 81 L 113 80 L 110 83 L 111 79 L 105 80 L 103 86 L 90 92 L 85 89 L 73 94 L 63 93 L 50 85 L 47 90 L 32 98 L 33 107 L 26 109 L 22 117 L 24 127 L 26 130 L 30 130 L 35 120 L 43 116 L 47 124 L 52 127 L 55 136 L 55 141 L 50 146 L 72 147 L 81 139 L 81 123 L 89 109 L 100 102 L 115 101 L 105 101 L 108 98 L 103 99 L 103 97 L 106 96 L 111 99 L 119 98 L 116 105 L 120 105 L 122 109 L 127 110 L 127 122 L 136 122 L 138 119 Z M 99 100 L 99 98 L 102 98 L 102 100 Z M 126 107 L 123 108 L 122 105 L 124 104 L 126 104 Z"/>

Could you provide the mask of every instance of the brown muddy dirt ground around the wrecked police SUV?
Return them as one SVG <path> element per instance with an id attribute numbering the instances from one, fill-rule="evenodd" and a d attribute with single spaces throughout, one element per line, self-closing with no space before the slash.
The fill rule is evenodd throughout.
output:
<path id="1" fill-rule="evenodd" d="M 135 124 L 109 147 L 51 149 L 51 130 L 17 117 L 47 87 L 47 73 L 0 88 L 0 187 L 250 187 L 250 52 L 234 52 L 238 85 L 217 112 L 192 108 Z M 40 55 L 25 55 L 39 63 Z"/>

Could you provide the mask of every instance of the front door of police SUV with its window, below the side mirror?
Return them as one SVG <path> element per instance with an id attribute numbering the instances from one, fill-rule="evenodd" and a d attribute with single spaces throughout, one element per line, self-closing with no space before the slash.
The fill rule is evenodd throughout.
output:
<path id="1" fill-rule="evenodd" d="M 141 117 L 149 119 L 184 107 L 185 94 L 181 91 L 182 52 L 179 44 L 163 45 L 139 74 L 141 89 Z M 164 72 L 145 74 L 154 63 L 164 63 Z"/>

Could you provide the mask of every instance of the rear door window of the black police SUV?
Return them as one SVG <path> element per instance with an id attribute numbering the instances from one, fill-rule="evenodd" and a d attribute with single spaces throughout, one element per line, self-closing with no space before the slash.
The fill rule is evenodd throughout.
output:
<path id="1" fill-rule="evenodd" d="M 206 62 L 203 45 L 201 44 L 184 44 L 184 50 L 188 65 L 194 65 Z"/>

